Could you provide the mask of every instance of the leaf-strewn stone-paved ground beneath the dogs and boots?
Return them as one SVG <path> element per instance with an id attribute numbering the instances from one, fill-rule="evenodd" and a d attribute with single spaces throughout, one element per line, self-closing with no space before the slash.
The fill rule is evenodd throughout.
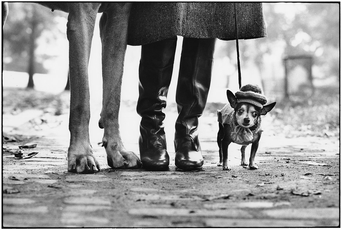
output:
<path id="1" fill-rule="evenodd" d="M 166 127 L 173 127 L 169 111 Z M 126 148 L 138 153 L 139 116 L 121 106 Z M 199 172 L 174 166 L 173 131 L 167 131 L 169 171 L 111 170 L 97 144 L 103 131 L 90 124 L 97 174 L 67 172 L 68 115 L 53 123 L 34 125 L 37 111 L 3 116 L 3 132 L 16 142 L 3 144 L 3 227 L 329 227 L 340 225 L 339 139 L 287 139 L 272 132 L 264 119 L 264 133 L 255 158 L 258 170 L 240 164 L 239 145 L 229 146 L 231 171 L 216 166 L 216 118 L 200 119 L 205 164 Z M 18 119 L 18 116 L 25 119 Z M 92 114 L 98 119 L 98 113 Z M 267 117 L 267 116 L 266 116 Z M 23 122 L 19 123 L 18 120 Z M 51 125 L 53 124 L 53 125 Z M 15 160 L 18 146 L 37 155 Z M 246 153 L 250 151 L 247 148 Z"/>

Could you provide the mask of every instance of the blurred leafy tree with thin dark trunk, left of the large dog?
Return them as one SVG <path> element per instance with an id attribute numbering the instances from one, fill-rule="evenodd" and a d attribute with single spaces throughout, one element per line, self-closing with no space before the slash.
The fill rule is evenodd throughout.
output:
<path id="1" fill-rule="evenodd" d="M 34 87 L 35 73 L 47 73 L 43 61 L 58 55 L 46 52 L 37 56 L 37 40 L 44 36 L 44 42 L 53 43 L 58 36 L 65 36 L 65 31 L 56 28 L 55 21 L 56 17 L 65 15 L 60 11 L 51 12 L 36 3 L 9 2 L 9 16 L 3 33 L 3 67 L 5 70 L 27 72 L 27 88 Z"/>

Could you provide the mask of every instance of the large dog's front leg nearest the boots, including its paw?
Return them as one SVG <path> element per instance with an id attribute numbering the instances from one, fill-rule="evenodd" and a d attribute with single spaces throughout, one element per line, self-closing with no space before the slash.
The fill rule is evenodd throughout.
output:
<path id="1" fill-rule="evenodd" d="M 100 128 L 112 168 L 140 168 L 142 163 L 133 152 L 126 151 L 119 132 L 119 108 L 123 60 L 127 47 L 128 18 L 132 3 L 110 3 L 100 20 L 102 42 L 103 101 Z"/>

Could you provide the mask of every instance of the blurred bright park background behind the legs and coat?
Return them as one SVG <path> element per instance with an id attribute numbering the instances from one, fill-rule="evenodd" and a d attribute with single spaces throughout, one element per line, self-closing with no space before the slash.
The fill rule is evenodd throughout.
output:
<path id="1" fill-rule="evenodd" d="M 269 102 L 277 101 L 275 110 L 270 114 L 275 119 L 274 125 L 278 126 L 281 132 L 287 132 L 289 136 L 294 133 L 328 137 L 338 135 L 339 3 L 266 2 L 263 3 L 263 11 L 267 37 L 239 41 L 242 84 L 257 83 L 263 88 Z M 92 52 L 96 54 L 91 54 L 90 57 L 89 79 L 90 87 L 98 85 L 97 90 L 102 90 L 99 18 L 100 15 L 96 19 L 92 44 Z M 51 12 L 50 9 L 36 3 L 9 2 L 9 16 L 3 29 L 3 70 L 28 73 L 29 80 L 27 81 L 26 75 L 26 78 L 14 78 L 14 72 L 8 75 L 4 72 L 4 87 L 6 82 L 16 82 L 11 86 L 18 86 L 24 81 L 24 87 L 36 88 L 44 79 L 49 79 L 41 87 L 44 90 L 54 88 L 58 81 L 65 82 L 63 84 L 66 85 L 66 23 L 67 13 Z M 181 38 L 179 40 L 181 42 Z M 181 46 L 178 45 L 177 49 L 180 49 L 179 47 Z M 312 79 L 305 68 L 308 63 L 303 59 L 289 62 L 288 76 L 285 76 L 284 59 L 303 55 L 312 57 Z M 137 100 L 139 59 L 140 47 L 128 46 L 122 85 L 123 100 Z M 176 60 L 179 60 L 177 53 Z M 175 75 L 178 73 L 176 68 L 177 63 Z M 288 98 L 285 98 L 285 77 L 289 80 Z M 173 77 L 169 90 L 170 103 L 174 103 L 174 78 L 176 77 Z M 127 88 L 132 86 L 132 82 L 135 82 L 136 90 Z M 235 41 L 218 41 L 206 110 L 215 116 L 216 109 L 226 102 L 226 89 L 237 91 L 237 85 Z M 23 85 L 21 87 L 24 88 Z M 12 97 L 9 103 L 13 106 L 14 91 L 6 95 Z M 96 95 L 100 98 L 101 105 L 102 93 L 96 92 Z"/>

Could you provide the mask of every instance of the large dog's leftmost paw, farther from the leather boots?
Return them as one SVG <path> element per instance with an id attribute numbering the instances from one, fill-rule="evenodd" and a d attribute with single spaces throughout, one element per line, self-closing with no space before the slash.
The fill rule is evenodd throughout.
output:
<path id="1" fill-rule="evenodd" d="M 75 150 L 83 149 L 76 152 Z M 70 146 L 68 150 L 68 171 L 84 174 L 92 174 L 100 171 L 100 164 L 93 156 L 91 146 L 87 148 L 75 148 Z"/>

